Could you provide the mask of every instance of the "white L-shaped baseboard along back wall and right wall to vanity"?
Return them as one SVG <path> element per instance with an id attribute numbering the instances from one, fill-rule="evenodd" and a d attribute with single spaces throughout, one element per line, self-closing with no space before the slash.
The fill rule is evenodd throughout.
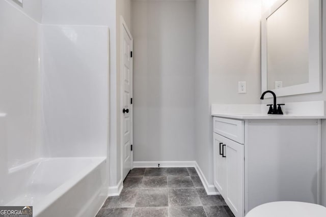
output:
<path id="1" fill-rule="evenodd" d="M 151 168 L 151 167 L 195 167 L 200 180 L 202 181 L 207 195 L 219 195 L 220 192 L 213 184 L 209 184 L 204 173 L 196 161 L 134 161 L 133 168 Z"/>

